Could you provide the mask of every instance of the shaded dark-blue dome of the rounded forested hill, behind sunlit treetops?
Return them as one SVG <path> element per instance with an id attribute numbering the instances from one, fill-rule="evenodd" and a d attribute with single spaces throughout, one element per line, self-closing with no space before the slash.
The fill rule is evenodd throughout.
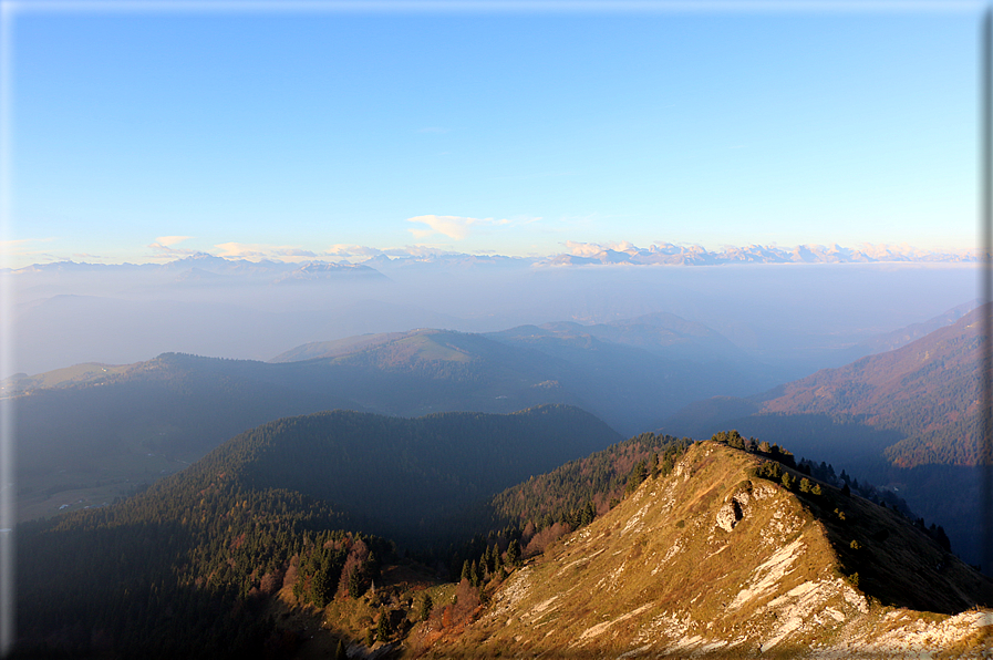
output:
<path id="1" fill-rule="evenodd" d="M 606 424 L 568 406 L 414 420 L 333 411 L 263 424 L 196 470 L 306 493 L 335 503 L 365 529 L 437 543 L 458 533 L 438 529 L 439 520 L 617 440 Z"/>

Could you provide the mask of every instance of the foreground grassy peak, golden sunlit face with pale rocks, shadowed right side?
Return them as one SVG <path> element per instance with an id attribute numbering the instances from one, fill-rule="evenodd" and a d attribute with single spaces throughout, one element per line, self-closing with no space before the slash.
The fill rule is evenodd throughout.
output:
<path id="1" fill-rule="evenodd" d="M 902 516 L 759 456 L 690 447 L 412 656 L 892 657 L 973 648 L 993 582 Z M 939 613 L 940 612 L 940 613 Z M 961 613 L 960 613 L 961 612 Z M 420 637 L 416 635 L 420 633 Z M 976 651 L 978 652 L 978 651 Z"/>

